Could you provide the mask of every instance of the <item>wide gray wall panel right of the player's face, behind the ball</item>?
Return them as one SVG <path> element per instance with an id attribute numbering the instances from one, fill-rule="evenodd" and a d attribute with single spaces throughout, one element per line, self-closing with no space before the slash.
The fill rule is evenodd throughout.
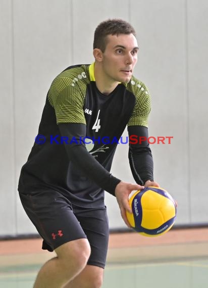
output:
<path id="1" fill-rule="evenodd" d="M 179 203 L 177 223 L 190 221 L 185 15 L 185 1 L 131 1 L 141 47 L 135 74 L 152 97 L 149 135 L 174 137 L 151 148 L 155 180 Z"/>

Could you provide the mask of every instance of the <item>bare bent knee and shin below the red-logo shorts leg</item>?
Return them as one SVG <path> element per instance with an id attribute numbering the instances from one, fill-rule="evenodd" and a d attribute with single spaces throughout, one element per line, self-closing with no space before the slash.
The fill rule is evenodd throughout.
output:
<path id="1" fill-rule="evenodd" d="M 55 251 L 57 257 L 42 266 L 34 288 L 61 288 L 76 277 L 86 266 L 90 246 L 87 239 L 78 239 L 63 244 Z"/>

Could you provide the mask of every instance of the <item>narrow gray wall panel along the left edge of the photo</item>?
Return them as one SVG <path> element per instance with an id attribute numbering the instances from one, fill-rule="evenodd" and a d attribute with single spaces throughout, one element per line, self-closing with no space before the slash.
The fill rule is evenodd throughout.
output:
<path id="1" fill-rule="evenodd" d="M 0 236 L 16 232 L 12 2 L 0 4 Z"/>

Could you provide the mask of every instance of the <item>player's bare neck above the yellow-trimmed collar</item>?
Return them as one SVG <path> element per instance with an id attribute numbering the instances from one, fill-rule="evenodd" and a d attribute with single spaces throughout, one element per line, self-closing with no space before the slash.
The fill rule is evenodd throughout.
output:
<path id="1" fill-rule="evenodd" d="M 120 83 L 110 79 L 110 77 L 103 71 L 99 62 L 94 63 L 94 77 L 97 89 L 105 95 L 109 95 Z"/>

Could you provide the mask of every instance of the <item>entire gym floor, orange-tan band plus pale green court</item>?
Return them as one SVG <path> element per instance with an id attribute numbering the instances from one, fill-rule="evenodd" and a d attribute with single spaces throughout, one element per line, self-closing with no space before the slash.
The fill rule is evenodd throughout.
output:
<path id="1" fill-rule="evenodd" d="M 0 241 L 0 287 L 31 288 L 55 256 L 40 238 Z M 112 233 L 102 288 L 208 287 L 208 228 L 172 229 L 158 237 Z"/>

